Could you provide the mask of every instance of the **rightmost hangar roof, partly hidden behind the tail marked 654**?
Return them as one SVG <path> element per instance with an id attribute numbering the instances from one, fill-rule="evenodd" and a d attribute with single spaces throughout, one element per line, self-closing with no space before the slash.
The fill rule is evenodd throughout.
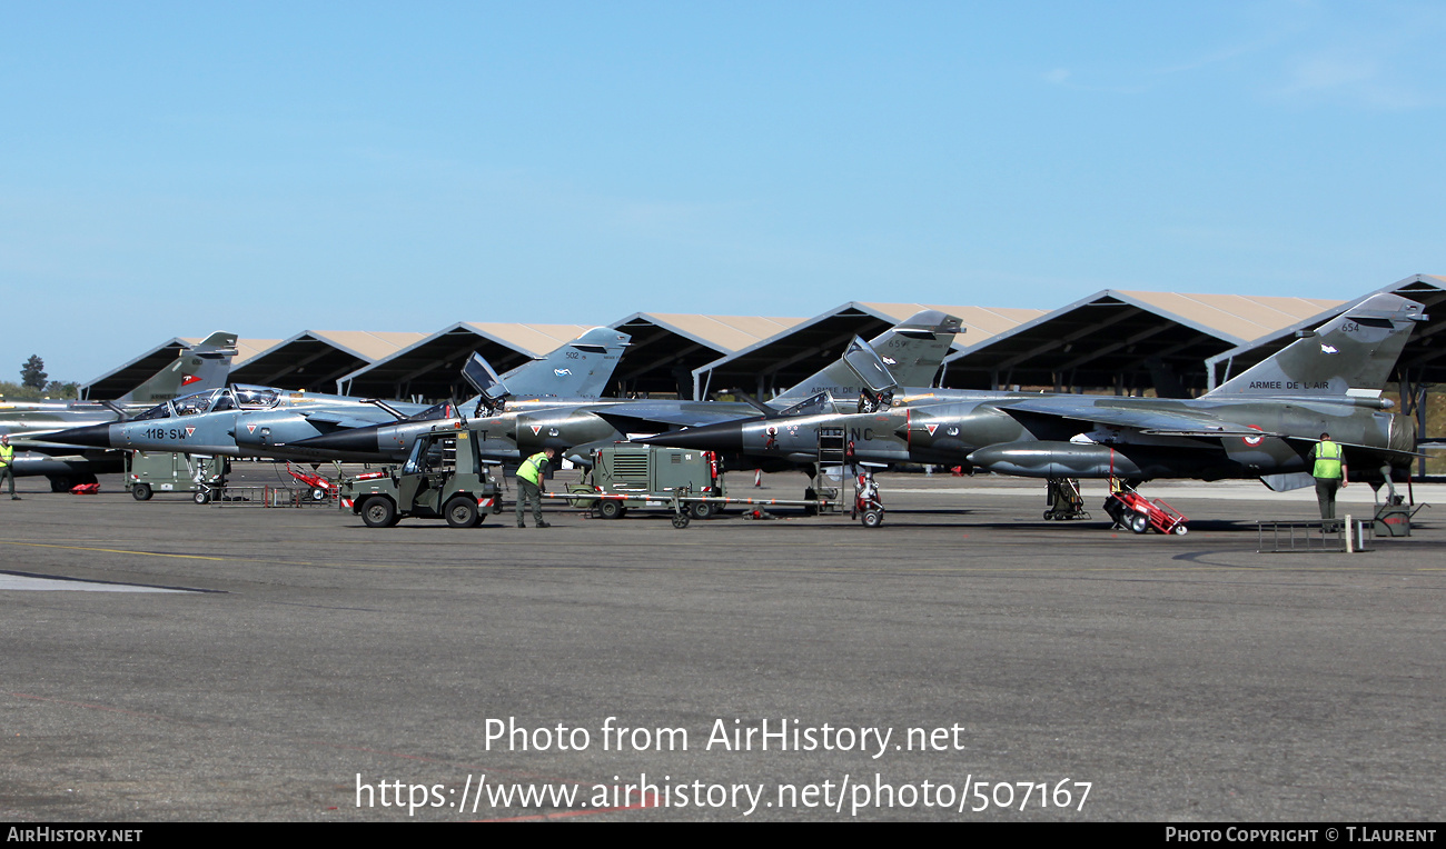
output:
<path id="1" fill-rule="evenodd" d="M 1420 302 L 1426 308 L 1426 315 L 1430 318 L 1430 321 L 1417 326 L 1411 332 L 1411 338 L 1406 342 L 1406 349 L 1401 351 L 1401 360 L 1397 365 L 1404 365 L 1410 371 L 1411 380 L 1419 383 L 1446 381 L 1446 336 L 1440 335 L 1446 331 L 1446 277 L 1434 274 L 1413 274 L 1403 280 L 1397 280 L 1390 286 L 1378 289 L 1371 295 L 1382 292 Z M 1288 326 L 1277 328 L 1270 334 L 1246 342 L 1245 345 L 1238 345 L 1229 351 L 1210 357 L 1206 361 L 1210 386 L 1225 383 L 1229 374 L 1239 374 L 1261 360 L 1275 354 L 1285 345 L 1290 345 L 1296 341 L 1296 331 L 1322 325 L 1340 315 L 1346 306 L 1359 303 L 1361 300 L 1365 300 L 1365 297 L 1368 296 L 1336 303 Z M 1400 368 L 1397 368 L 1394 380 L 1400 380 Z"/>

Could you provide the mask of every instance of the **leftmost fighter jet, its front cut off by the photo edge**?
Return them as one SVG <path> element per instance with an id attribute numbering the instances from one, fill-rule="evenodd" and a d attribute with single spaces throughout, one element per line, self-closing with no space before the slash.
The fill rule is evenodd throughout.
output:
<path id="1" fill-rule="evenodd" d="M 55 435 L 81 425 L 124 420 L 182 390 L 223 387 L 233 357 L 236 334 L 215 332 L 114 401 L 0 401 L 0 433 L 10 435 L 14 446 L 26 452 L 14 458 L 16 476 L 45 475 L 52 491 L 64 492 L 75 484 L 94 484 L 95 475 L 121 471 L 121 455 L 58 442 Z"/>

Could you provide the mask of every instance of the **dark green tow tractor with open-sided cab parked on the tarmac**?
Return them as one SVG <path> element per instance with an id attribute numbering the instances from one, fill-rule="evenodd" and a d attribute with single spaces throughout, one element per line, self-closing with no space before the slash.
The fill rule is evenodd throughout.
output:
<path id="1" fill-rule="evenodd" d="M 343 478 L 338 504 L 367 527 L 392 527 L 403 517 L 473 527 L 502 513 L 500 488 L 482 462 L 477 439 L 447 425 L 418 436 L 401 468 Z"/>

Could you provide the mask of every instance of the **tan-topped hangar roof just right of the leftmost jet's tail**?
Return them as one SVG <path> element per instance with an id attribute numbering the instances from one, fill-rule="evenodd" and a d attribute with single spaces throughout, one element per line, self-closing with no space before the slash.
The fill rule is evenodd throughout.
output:
<path id="1" fill-rule="evenodd" d="M 302 331 L 243 364 L 231 364 L 231 383 L 278 386 L 312 393 L 335 391 L 337 378 L 376 362 L 425 334 Z"/>

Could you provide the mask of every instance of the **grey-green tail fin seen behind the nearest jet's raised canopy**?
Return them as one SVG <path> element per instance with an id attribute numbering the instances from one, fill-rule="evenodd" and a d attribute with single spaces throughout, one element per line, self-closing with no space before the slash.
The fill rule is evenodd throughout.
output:
<path id="1" fill-rule="evenodd" d="M 925 387 L 934 383 L 938 367 L 954 344 L 954 335 L 963 332 L 963 322 L 937 309 L 925 309 L 884 331 L 869 347 L 886 365 L 886 371 L 904 387 Z M 855 351 L 853 347 L 849 348 Z M 859 373 L 844 358 L 829 364 L 823 371 L 774 399 L 775 406 L 788 406 L 818 393 L 836 399 L 857 397 Z"/>

